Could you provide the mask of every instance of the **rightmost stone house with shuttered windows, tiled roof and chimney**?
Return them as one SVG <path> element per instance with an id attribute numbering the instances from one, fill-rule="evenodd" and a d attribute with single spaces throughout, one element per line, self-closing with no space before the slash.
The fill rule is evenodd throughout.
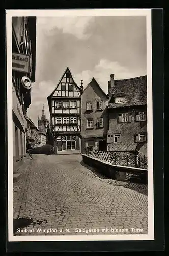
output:
<path id="1" fill-rule="evenodd" d="M 108 82 L 108 151 L 147 155 L 147 76 Z"/>

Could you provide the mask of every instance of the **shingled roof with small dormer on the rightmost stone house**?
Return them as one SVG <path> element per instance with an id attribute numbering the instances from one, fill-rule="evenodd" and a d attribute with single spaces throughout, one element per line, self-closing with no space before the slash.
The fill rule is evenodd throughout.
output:
<path id="1" fill-rule="evenodd" d="M 122 108 L 147 104 L 147 76 L 139 76 L 124 80 L 115 80 L 115 86 L 110 87 L 108 81 L 108 108 Z M 114 103 L 114 97 L 125 97 L 124 103 Z"/>

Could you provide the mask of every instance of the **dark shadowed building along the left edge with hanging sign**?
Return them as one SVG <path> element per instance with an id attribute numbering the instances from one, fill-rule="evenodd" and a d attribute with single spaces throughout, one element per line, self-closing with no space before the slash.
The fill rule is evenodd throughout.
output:
<path id="1" fill-rule="evenodd" d="M 26 117 L 35 82 L 36 17 L 12 17 L 13 172 L 26 155 Z"/>

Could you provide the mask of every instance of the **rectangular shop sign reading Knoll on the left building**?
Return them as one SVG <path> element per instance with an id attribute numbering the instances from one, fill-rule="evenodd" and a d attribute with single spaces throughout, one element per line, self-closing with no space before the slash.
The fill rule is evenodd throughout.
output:
<path id="1" fill-rule="evenodd" d="M 30 55 L 12 53 L 12 70 L 29 73 Z"/>

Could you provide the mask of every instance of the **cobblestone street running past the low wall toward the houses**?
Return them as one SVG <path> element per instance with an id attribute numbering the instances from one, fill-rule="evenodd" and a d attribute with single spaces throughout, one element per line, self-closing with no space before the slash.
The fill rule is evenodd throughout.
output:
<path id="1" fill-rule="evenodd" d="M 15 234 L 147 234 L 146 185 L 99 175 L 80 154 L 33 158 L 27 157 L 14 183 Z"/>

